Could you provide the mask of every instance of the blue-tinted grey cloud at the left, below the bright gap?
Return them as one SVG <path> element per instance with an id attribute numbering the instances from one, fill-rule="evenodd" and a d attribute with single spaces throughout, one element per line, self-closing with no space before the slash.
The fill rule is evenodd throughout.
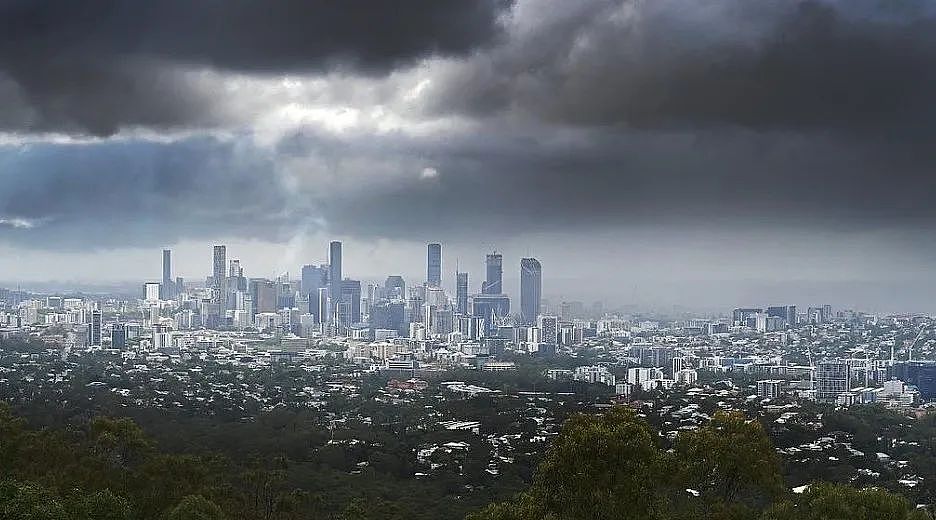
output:
<path id="1" fill-rule="evenodd" d="M 0 240 L 88 250 L 223 231 L 278 240 L 295 210 L 273 161 L 233 141 L 31 145 L 0 150 Z M 285 230 L 285 231 L 284 231 Z"/>

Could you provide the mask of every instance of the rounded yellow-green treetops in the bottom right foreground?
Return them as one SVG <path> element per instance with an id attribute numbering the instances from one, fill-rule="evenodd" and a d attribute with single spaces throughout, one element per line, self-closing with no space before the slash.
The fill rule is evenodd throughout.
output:
<path id="1" fill-rule="evenodd" d="M 569 419 L 530 488 L 468 520 L 932 520 L 881 489 L 819 483 L 790 498 L 780 469 L 763 427 L 740 413 L 716 413 L 667 452 L 614 408 Z"/>

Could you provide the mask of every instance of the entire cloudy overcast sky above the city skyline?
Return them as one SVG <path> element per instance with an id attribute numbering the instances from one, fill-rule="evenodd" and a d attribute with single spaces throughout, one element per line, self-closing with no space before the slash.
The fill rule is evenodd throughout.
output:
<path id="1" fill-rule="evenodd" d="M 936 312 L 934 92 L 925 0 L 0 0 L 0 280 Z"/>

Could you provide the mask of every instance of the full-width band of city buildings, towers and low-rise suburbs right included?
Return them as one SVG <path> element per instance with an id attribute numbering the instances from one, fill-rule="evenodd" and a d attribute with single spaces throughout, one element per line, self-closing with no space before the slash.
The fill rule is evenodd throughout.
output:
<path id="1" fill-rule="evenodd" d="M 415 285 L 398 275 L 383 284 L 344 277 L 340 242 L 329 244 L 328 263 L 303 266 L 299 280 L 248 278 L 220 245 L 204 284 L 173 279 L 171 252 L 162 259 L 162 281 L 145 283 L 136 300 L 6 291 L 0 337 L 27 332 L 66 347 L 169 355 L 262 349 L 282 361 L 326 348 L 356 370 L 421 376 L 454 367 L 514 370 L 509 356 L 561 355 L 566 361 L 547 369 L 548 378 L 605 385 L 623 396 L 725 374 L 757 381 L 757 396 L 767 399 L 894 408 L 936 399 L 936 334 L 924 316 L 774 305 L 713 317 L 583 319 L 574 302 L 544 312 L 535 258 L 520 260 L 520 305 L 512 312 L 502 255 L 486 256 L 477 292 L 468 273 L 457 271 L 452 296 L 442 288 L 438 243 L 428 244 L 426 279 Z M 581 361 L 569 366 L 569 357 Z"/>

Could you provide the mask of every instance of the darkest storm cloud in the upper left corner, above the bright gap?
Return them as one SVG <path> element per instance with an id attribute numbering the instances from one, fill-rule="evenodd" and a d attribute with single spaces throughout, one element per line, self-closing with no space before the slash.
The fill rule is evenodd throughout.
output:
<path id="1" fill-rule="evenodd" d="M 212 124 L 188 69 L 380 74 L 498 34 L 504 0 L 0 0 L 0 129 Z M 9 108 L 8 108 L 9 107 Z"/>

